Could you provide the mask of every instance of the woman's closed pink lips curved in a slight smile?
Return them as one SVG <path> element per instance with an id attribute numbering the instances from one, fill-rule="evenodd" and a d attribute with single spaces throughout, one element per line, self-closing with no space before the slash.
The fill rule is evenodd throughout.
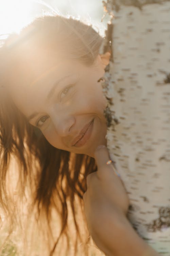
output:
<path id="1" fill-rule="evenodd" d="M 94 121 L 94 118 L 87 125 L 84 126 L 84 128 L 80 131 L 79 135 L 73 140 L 72 146 L 81 146 L 85 144 L 86 140 L 91 134 L 90 133 L 91 129 L 89 129 L 89 127 L 92 125 L 93 121 Z M 87 137 L 87 138 L 84 138 L 84 137 Z"/>

